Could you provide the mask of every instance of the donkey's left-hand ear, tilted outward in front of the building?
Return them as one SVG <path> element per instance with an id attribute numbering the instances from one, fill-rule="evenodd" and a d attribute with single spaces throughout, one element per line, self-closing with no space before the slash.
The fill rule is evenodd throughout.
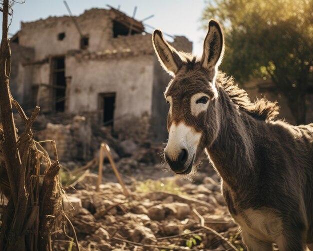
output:
<path id="1" fill-rule="evenodd" d="M 164 40 L 160 30 L 154 30 L 152 44 L 161 66 L 168 73 L 175 75 L 183 65 L 180 54 Z"/>

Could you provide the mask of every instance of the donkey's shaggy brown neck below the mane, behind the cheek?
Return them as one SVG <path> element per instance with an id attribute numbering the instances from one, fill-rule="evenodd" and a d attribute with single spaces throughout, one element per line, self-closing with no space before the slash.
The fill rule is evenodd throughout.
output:
<path id="1" fill-rule="evenodd" d="M 253 171 L 252 135 L 255 122 L 230 100 L 222 88 L 218 90 L 220 129 L 207 153 L 221 178 L 234 189 Z"/>

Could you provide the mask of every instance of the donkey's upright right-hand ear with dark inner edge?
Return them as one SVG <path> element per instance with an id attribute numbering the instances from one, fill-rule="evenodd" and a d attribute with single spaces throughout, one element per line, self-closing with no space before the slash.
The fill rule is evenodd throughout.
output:
<path id="1" fill-rule="evenodd" d="M 208 22 L 208 32 L 203 44 L 201 65 L 203 68 L 212 69 L 220 65 L 224 54 L 224 39 L 220 25 L 215 20 Z"/>

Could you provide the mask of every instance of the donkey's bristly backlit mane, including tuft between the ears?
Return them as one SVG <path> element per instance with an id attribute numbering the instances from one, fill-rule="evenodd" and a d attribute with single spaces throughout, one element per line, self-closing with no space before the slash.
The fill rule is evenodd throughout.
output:
<path id="1" fill-rule="evenodd" d="M 192 56 L 192 54 L 183 53 L 182 55 L 184 56 L 188 68 L 193 68 L 194 65 L 200 63 L 199 59 Z M 237 84 L 234 84 L 233 77 L 226 77 L 225 73 L 218 71 L 216 85 L 221 86 L 225 90 L 231 101 L 240 110 L 245 111 L 248 115 L 257 120 L 274 119 L 279 114 L 277 102 L 270 102 L 265 98 L 261 98 L 256 99 L 252 103 L 247 92 L 239 88 Z"/>

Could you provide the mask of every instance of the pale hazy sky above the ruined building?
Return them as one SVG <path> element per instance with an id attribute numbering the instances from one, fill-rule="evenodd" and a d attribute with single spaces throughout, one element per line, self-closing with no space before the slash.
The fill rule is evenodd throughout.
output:
<path id="1" fill-rule="evenodd" d="M 106 5 L 116 9 L 119 6 L 121 12 L 132 16 L 136 6 L 135 19 L 140 21 L 154 15 L 153 18 L 143 23 L 161 29 L 169 35 L 187 37 L 193 42 L 193 53 L 199 56 L 202 54 L 202 44 L 206 31 L 200 29 L 202 24 L 200 18 L 205 7 L 205 0 L 66 0 L 66 2 L 74 16 L 78 16 L 91 8 L 107 9 Z M 45 19 L 49 16 L 68 15 L 63 0 L 26 0 L 24 4 L 14 4 L 12 8 L 13 18 L 9 27 L 10 35 L 15 34 L 20 29 L 21 22 Z M 0 18 L 2 20 L 2 15 Z M 152 32 L 148 28 L 146 31 Z M 170 41 L 169 37 L 165 37 L 165 39 Z"/>

